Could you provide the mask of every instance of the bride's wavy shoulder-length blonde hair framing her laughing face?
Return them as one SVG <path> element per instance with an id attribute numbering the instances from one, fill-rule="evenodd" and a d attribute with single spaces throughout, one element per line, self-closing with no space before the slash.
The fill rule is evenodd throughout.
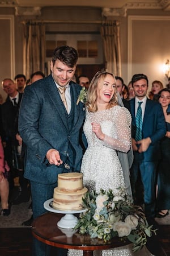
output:
<path id="1" fill-rule="evenodd" d="M 96 112 L 98 110 L 97 109 L 97 87 L 99 85 L 98 87 L 99 90 L 102 88 L 103 81 L 107 75 L 111 75 L 115 80 L 114 75 L 106 71 L 98 71 L 91 80 L 90 86 L 87 90 L 87 102 L 86 102 L 87 109 L 90 112 Z M 110 109 L 112 108 L 112 106 L 117 105 L 118 99 L 116 94 L 117 94 L 117 87 L 115 87 L 113 97 L 109 101 L 107 109 Z"/>

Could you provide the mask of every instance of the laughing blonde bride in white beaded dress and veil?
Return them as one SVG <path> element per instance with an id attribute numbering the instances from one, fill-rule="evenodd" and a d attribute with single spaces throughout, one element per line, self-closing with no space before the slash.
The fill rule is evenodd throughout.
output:
<path id="1" fill-rule="evenodd" d="M 112 73 L 97 72 L 87 92 L 84 134 L 88 147 L 83 155 L 81 172 L 88 191 L 100 188 L 118 193 L 125 187 L 131 197 L 128 155 L 131 147 L 131 115 L 118 105 L 116 81 Z M 132 160 L 132 159 L 131 159 Z M 94 251 L 94 256 L 152 255 L 146 247 L 133 253 L 131 245 Z M 81 250 L 69 250 L 68 256 L 83 256 Z"/>

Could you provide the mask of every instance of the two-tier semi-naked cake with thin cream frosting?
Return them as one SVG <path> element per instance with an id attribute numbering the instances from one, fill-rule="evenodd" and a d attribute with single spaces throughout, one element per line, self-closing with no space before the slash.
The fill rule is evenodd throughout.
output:
<path id="1" fill-rule="evenodd" d="M 81 210 L 82 197 L 87 188 L 83 188 L 83 174 L 69 172 L 58 174 L 58 187 L 54 188 L 53 208 L 57 210 Z"/>

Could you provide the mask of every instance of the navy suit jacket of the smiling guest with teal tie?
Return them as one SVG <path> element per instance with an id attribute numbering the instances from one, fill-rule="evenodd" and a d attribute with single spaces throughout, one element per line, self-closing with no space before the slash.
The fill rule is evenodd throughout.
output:
<path id="1" fill-rule="evenodd" d="M 135 98 L 129 102 L 132 117 L 132 138 L 135 138 Z M 143 117 L 142 138 L 150 137 L 152 143 L 146 152 L 139 154 L 134 151 L 134 160 L 141 160 L 142 156 L 146 162 L 158 161 L 161 157 L 159 143 L 165 133 L 166 126 L 162 106 L 159 102 L 151 101 L 147 98 Z"/>

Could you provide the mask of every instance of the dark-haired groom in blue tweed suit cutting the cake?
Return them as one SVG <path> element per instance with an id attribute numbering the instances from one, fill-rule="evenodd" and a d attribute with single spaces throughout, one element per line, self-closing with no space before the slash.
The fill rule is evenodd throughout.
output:
<path id="1" fill-rule="evenodd" d="M 33 218 L 44 213 L 44 202 L 53 198 L 57 175 L 80 171 L 85 111 L 82 102 L 76 105 L 82 87 L 71 81 L 77 60 L 73 47 L 56 48 L 51 75 L 27 86 L 23 94 L 19 132 L 27 145 L 24 176 L 31 182 Z M 59 91 L 62 88 L 67 105 Z M 43 243 L 35 240 L 33 246 L 34 256 L 50 255 L 50 248 Z M 56 253 L 66 254 L 63 249 Z"/>

